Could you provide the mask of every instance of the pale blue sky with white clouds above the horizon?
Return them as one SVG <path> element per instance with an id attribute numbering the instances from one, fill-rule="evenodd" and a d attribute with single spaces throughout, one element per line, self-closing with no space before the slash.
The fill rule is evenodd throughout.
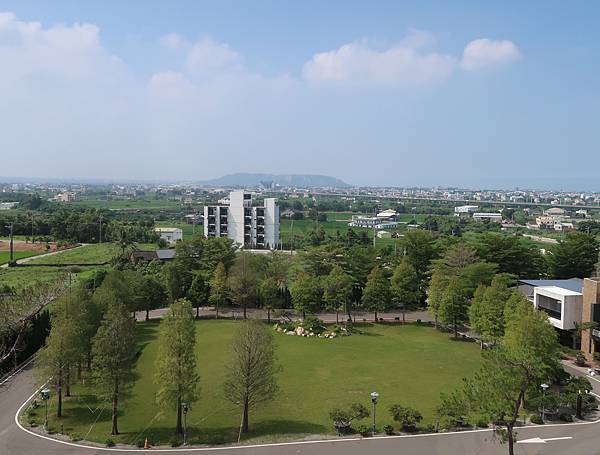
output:
<path id="1" fill-rule="evenodd" d="M 2 1 L 0 175 L 600 190 L 595 2 Z"/>

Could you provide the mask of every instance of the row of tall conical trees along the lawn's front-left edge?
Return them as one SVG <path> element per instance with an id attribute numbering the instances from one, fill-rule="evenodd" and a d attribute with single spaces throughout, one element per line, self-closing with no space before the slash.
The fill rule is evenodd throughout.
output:
<path id="1" fill-rule="evenodd" d="M 97 395 L 111 407 L 111 434 L 119 434 L 119 403 L 135 379 L 139 355 L 132 302 L 140 298 L 127 274 L 109 273 L 93 292 L 78 286 L 59 300 L 52 329 L 37 358 L 42 381 L 56 391 L 56 415 L 63 416 L 63 397 L 76 381 L 89 377 Z M 139 290 L 139 289 L 138 289 Z M 161 320 L 155 361 L 156 402 L 163 413 L 176 415 L 175 433 L 182 433 L 182 403 L 200 397 L 196 362 L 196 328 L 192 305 L 174 301 Z M 232 346 L 224 395 L 240 407 L 242 431 L 248 431 L 249 411 L 277 390 L 272 333 L 258 321 L 243 324 Z"/>

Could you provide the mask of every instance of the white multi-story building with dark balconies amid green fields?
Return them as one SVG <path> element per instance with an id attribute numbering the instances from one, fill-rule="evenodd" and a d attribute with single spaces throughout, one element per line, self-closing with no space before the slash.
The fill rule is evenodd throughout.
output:
<path id="1" fill-rule="evenodd" d="M 204 207 L 204 235 L 229 237 L 250 248 L 277 248 L 279 244 L 279 204 L 266 198 L 262 206 L 252 205 L 252 194 L 232 191 L 229 205 Z"/>

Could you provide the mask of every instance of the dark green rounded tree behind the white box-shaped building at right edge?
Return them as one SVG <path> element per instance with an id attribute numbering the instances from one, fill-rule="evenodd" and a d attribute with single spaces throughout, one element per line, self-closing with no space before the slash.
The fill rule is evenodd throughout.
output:
<path id="1" fill-rule="evenodd" d="M 558 279 L 589 278 L 598 261 L 596 236 L 584 232 L 569 232 L 549 255 L 550 275 Z"/>

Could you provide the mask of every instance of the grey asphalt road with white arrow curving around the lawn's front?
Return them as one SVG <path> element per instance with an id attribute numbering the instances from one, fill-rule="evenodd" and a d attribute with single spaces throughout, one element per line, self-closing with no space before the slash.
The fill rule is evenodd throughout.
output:
<path id="1" fill-rule="evenodd" d="M 600 382 L 594 387 L 600 392 Z M 140 449 L 119 450 L 66 445 L 27 433 L 15 423 L 15 414 L 36 390 L 31 368 L 18 373 L 0 385 L 0 455 L 116 455 L 139 452 Z M 521 442 L 515 446 L 519 455 L 598 455 L 600 453 L 600 422 L 558 424 L 521 428 Z M 536 439 L 540 438 L 540 439 Z M 556 439 L 557 438 L 557 439 Z M 537 441 L 537 442 L 535 442 Z M 158 449 L 152 451 L 158 452 Z M 161 450 L 162 451 L 162 450 Z M 221 447 L 218 449 L 167 449 L 167 453 L 192 455 L 502 455 L 507 447 L 494 441 L 489 430 L 440 433 L 408 437 L 354 438 L 349 440 L 311 441 L 276 445 Z"/>

